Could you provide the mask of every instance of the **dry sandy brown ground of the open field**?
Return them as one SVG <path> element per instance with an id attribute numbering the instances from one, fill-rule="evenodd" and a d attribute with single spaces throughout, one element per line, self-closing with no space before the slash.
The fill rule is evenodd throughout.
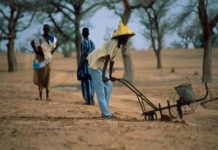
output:
<path id="1" fill-rule="evenodd" d="M 218 50 L 213 51 L 213 82 L 218 96 Z M 154 104 L 166 105 L 174 87 L 191 82 L 196 98 L 204 96 L 201 83 L 202 50 L 165 50 L 163 69 L 157 70 L 152 51 L 132 52 L 134 85 Z M 95 106 L 86 106 L 76 80 L 75 56 L 56 53 L 52 62 L 51 98 L 35 100 L 32 83 L 33 54 L 19 54 L 18 72 L 7 72 L 5 54 L 0 54 L 0 149 L 2 150 L 218 150 L 218 101 L 200 104 L 185 115 L 186 123 L 146 121 L 137 97 L 115 83 L 110 109 L 118 117 L 101 119 Z M 122 77 L 123 65 L 116 58 L 114 75 Z M 175 73 L 171 73 L 174 68 Z"/>

